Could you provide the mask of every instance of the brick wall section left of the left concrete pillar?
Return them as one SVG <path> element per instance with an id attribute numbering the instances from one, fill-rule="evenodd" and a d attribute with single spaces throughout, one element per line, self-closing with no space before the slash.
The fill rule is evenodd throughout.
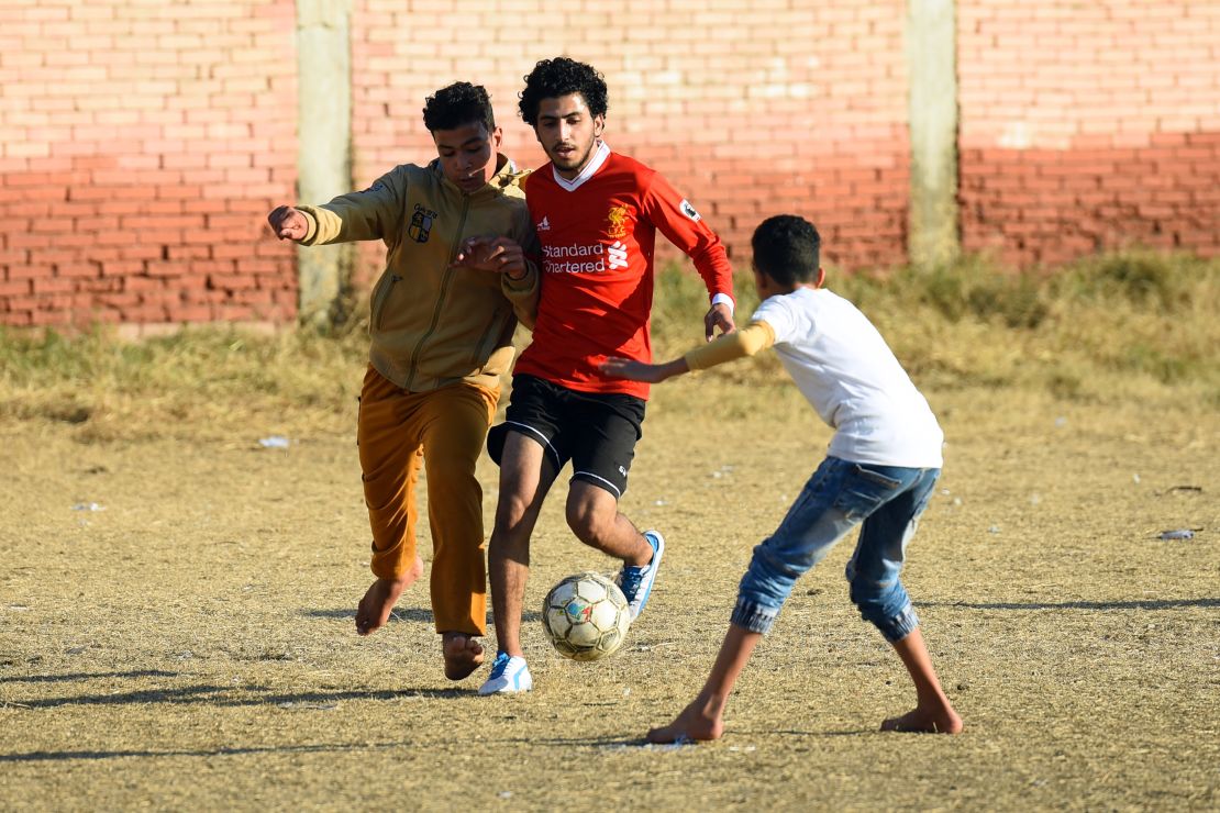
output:
<path id="1" fill-rule="evenodd" d="M 0 2 L 0 324 L 294 318 L 292 2 Z"/>

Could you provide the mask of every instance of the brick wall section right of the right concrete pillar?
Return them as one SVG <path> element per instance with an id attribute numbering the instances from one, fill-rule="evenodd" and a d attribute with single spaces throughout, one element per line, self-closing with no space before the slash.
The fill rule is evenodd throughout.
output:
<path id="1" fill-rule="evenodd" d="M 963 245 L 1220 255 L 1220 2 L 960 2 Z"/>

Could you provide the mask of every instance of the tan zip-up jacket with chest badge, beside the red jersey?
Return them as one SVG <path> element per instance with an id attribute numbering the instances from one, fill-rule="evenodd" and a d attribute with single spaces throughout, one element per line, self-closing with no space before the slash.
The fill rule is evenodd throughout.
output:
<path id="1" fill-rule="evenodd" d="M 498 386 L 512 364 L 517 321 L 533 327 L 538 268 L 526 278 L 450 268 L 470 236 L 508 236 L 537 256 L 522 182 L 511 161 L 478 191 L 465 194 L 438 161 L 401 165 L 364 191 L 322 206 L 298 206 L 310 221 L 304 245 L 383 240 L 386 271 L 372 293 L 368 361 L 412 392 L 459 380 Z"/>

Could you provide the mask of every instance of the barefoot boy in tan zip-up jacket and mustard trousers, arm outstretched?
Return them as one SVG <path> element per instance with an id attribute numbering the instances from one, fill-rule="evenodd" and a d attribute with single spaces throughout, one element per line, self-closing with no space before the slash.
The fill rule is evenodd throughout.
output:
<path id="1" fill-rule="evenodd" d="M 482 489 L 475 464 L 512 363 L 517 322 L 533 324 L 538 269 L 521 180 L 500 155 L 487 90 L 460 82 L 429 96 L 437 145 L 428 166 L 401 165 L 364 191 L 267 216 L 301 245 L 382 240 L 386 271 L 372 293 L 368 369 L 357 444 L 377 577 L 356 631 L 383 627 L 423 572 L 415 488 L 422 458 L 432 529 L 432 609 L 445 676 L 483 662 L 487 588 Z"/>

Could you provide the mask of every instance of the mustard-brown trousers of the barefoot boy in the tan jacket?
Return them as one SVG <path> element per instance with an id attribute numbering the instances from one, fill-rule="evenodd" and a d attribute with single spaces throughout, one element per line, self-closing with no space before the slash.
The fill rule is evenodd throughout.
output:
<path id="1" fill-rule="evenodd" d="M 365 373 L 356 442 L 373 534 L 372 570 L 395 579 L 415 562 L 415 491 L 422 461 L 438 633 L 486 631 L 483 490 L 475 463 L 498 399 L 498 389 L 467 383 L 409 392 L 372 366 Z"/>

